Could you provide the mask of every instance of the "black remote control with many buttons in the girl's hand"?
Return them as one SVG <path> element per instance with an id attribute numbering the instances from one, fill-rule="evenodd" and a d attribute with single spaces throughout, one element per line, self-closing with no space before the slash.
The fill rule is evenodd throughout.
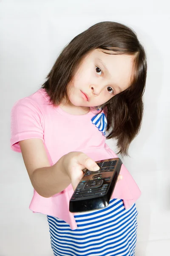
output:
<path id="1" fill-rule="evenodd" d="M 96 161 L 99 171 L 83 170 L 80 180 L 70 199 L 70 212 L 86 212 L 108 206 L 122 166 L 120 158 Z"/>

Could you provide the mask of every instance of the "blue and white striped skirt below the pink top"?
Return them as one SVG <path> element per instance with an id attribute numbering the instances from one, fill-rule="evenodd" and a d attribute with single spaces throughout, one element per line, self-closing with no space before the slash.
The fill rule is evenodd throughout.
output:
<path id="1" fill-rule="evenodd" d="M 125 209 L 122 199 L 111 199 L 104 209 L 74 215 L 77 229 L 47 216 L 55 256 L 134 256 L 137 238 L 136 204 Z"/>

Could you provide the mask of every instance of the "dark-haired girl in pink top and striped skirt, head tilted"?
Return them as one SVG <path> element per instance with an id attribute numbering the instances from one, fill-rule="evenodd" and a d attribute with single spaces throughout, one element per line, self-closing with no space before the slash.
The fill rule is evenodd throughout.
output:
<path id="1" fill-rule="evenodd" d="M 127 155 L 142 122 L 146 72 L 135 32 L 100 22 L 77 35 L 42 88 L 12 109 L 11 149 L 22 152 L 34 187 L 30 209 L 47 215 L 55 256 L 135 253 L 141 192 L 124 165 L 108 207 L 73 214 L 69 200 L 83 169 L 117 157 L 106 139 Z"/>

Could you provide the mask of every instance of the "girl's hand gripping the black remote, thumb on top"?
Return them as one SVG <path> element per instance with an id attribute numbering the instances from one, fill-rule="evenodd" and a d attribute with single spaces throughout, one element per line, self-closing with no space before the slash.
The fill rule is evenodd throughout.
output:
<path id="1" fill-rule="evenodd" d="M 65 154 L 60 158 L 60 160 L 62 160 L 62 167 L 64 172 L 70 178 L 74 190 L 84 175 L 82 172 L 83 169 L 87 168 L 89 171 L 99 170 L 99 166 L 94 162 L 94 160 L 79 151 Z M 122 180 L 122 178 L 122 175 L 119 175 L 118 180 Z"/>

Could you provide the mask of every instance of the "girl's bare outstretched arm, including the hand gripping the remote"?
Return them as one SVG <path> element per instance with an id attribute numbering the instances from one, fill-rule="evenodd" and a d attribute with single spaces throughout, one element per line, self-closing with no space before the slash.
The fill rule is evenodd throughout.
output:
<path id="1" fill-rule="evenodd" d="M 61 192 L 70 183 L 75 189 L 83 176 L 82 169 L 94 171 L 93 166 L 97 166 L 82 152 L 70 152 L 50 166 L 41 139 L 22 140 L 19 143 L 32 186 L 43 197 Z"/>

